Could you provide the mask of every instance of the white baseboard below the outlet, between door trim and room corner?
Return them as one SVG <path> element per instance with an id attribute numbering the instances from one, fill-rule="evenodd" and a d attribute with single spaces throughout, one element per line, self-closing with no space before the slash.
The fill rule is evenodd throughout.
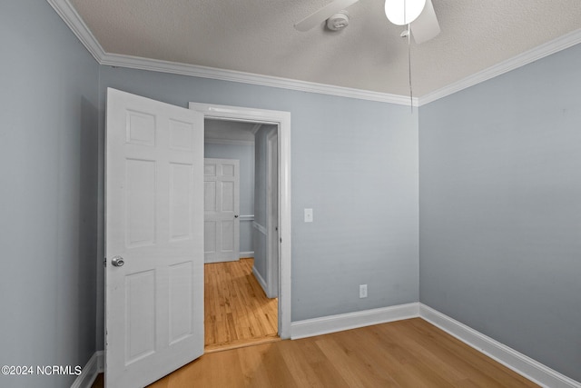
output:
<path id="1" fill-rule="evenodd" d="M 341 313 L 291 323 L 291 339 L 356 329 L 419 317 L 419 303 L 399 304 L 355 313 Z"/>

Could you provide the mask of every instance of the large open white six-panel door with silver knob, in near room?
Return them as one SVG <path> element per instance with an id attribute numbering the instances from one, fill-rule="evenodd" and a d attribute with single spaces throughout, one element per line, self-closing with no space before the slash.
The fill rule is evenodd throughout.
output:
<path id="1" fill-rule="evenodd" d="M 203 353 L 203 115 L 108 89 L 105 160 L 105 383 L 143 387 Z"/>

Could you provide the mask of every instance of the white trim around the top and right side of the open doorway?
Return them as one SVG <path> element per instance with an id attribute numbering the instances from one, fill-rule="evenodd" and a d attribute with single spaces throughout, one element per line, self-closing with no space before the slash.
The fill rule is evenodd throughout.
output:
<path id="1" fill-rule="evenodd" d="M 190 103 L 206 119 L 275 124 L 279 127 L 279 335 L 291 338 L 291 113 L 218 104 Z"/>

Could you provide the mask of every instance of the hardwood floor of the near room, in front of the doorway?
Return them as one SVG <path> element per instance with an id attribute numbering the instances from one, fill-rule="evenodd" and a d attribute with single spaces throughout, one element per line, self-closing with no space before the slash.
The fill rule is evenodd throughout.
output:
<path id="1" fill-rule="evenodd" d="M 414 318 L 204 354 L 149 388 L 307 386 L 537 387 L 448 333 Z"/>

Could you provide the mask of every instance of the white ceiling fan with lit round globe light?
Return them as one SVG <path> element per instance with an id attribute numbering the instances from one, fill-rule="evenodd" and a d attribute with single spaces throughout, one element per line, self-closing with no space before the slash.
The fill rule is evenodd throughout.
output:
<path id="1" fill-rule="evenodd" d="M 350 5 L 354 5 L 358 1 L 334 0 L 330 4 L 320 8 L 319 11 L 300 20 L 294 27 L 301 32 L 305 32 L 330 18 L 337 20 L 335 23 L 339 25 L 336 26 L 345 26 L 345 23 L 349 23 L 349 18 L 345 19 L 340 16 L 335 16 L 345 16 L 345 13 L 341 13 L 341 11 Z M 386 0 L 385 14 L 394 25 L 409 25 L 411 35 L 413 35 L 417 44 L 427 42 L 439 34 L 438 18 L 436 17 L 434 5 L 432 5 L 431 0 Z M 329 27 L 331 29 L 340 29 L 333 28 L 332 25 L 329 25 Z M 409 34 L 409 31 L 407 33 Z M 402 36 L 405 35 L 402 34 Z"/>

